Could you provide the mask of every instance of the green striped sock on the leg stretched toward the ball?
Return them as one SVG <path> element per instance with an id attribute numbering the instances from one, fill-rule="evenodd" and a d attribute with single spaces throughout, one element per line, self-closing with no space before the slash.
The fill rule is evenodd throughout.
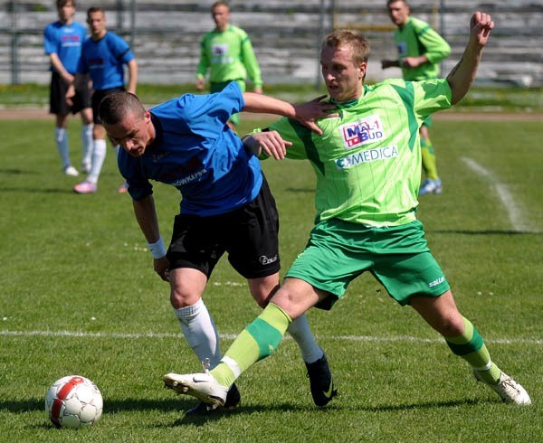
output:
<path id="1" fill-rule="evenodd" d="M 254 319 L 224 354 L 221 363 L 210 372 L 223 386 L 230 386 L 252 364 L 271 355 L 281 342 L 291 324 L 281 307 L 270 303 L 261 315 Z"/>

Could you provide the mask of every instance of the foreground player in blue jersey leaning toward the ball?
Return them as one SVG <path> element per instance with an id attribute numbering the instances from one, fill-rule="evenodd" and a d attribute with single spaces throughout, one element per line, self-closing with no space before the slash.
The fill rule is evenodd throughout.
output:
<path id="1" fill-rule="evenodd" d="M 293 106 L 262 94 L 242 93 L 235 82 L 214 94 L 186 94 L 150 110 L 128 92 L 110 94 L 100 103 L 100 118 L 110 139 L 123 148 L 119 170 L 129 184 L 154 269 L 169 280 L 170 302 L 187 344 L 212 368 L 221 359 L 219 337 L 202 294 L 218 260 L 228 254 L 233 269 L 247 279 L 252 297 L 262 307 L 279 287 L 275 201 L 259 160 L 243 147 L 228 119 L 242 110 L 270 112 L 300 118 L 319 131 L 314 118 L 324 117 L 329 108 L 334 107 L 318 100 Z M 171 184 L 183 196 L 168 250 L 160 237 L 150 180 Z M 323 397 L 332 386 L 326 355 L 305 316 L 293 322 L 289 332 L 300 345 L 313 399 L 324 406 L 332 397 Z M 239 401 L 233 385 L 224 406 Z M 189 412 L 213 409 L 200 403 Z"/>

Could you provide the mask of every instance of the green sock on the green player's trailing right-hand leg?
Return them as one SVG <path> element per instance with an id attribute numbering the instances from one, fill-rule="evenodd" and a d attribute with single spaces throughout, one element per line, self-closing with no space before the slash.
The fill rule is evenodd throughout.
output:
<path id="1" fill-rule="evenodd" d="M 482 337 L 475 326 L 463 317 L 464 332 L 456 337 L 445 337 L 452 353 L 458 355 L 472 365 L 481 375 L 481 379 L 489 383 L 497 383 L 500 380 L 501 370 L 491 362 L 491 354 L 482 341 Z"/>

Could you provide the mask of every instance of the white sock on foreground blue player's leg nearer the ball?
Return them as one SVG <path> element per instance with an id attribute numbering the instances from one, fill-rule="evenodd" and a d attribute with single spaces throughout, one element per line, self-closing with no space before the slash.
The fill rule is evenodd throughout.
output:
<path id="1" fill-rule="evenodd" d="M 195 352 L 200 362 L 209 359 L 209 369 L 213 369 L 221 360 L 219 334 L 209 315 L 204 300 L 200 298 L 195 305 L 174 308 L 186 343 Z"/>

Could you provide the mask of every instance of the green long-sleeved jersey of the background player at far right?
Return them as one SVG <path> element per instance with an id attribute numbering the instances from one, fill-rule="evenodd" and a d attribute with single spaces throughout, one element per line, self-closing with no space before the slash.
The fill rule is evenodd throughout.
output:
<path id="1" fill-rule="evenodd" d="M 437 79 L 439 63 L 451 53 L 451 46 L 432 27 L 414 17 L 409 17 L 402 28 L 397 28 L 394 41 L 398 49 L 398 58 L 404 80 Z M 427 63 L 416 68 L 405 69 L 402 65 L 404 57 L 425 55 Z"/>

